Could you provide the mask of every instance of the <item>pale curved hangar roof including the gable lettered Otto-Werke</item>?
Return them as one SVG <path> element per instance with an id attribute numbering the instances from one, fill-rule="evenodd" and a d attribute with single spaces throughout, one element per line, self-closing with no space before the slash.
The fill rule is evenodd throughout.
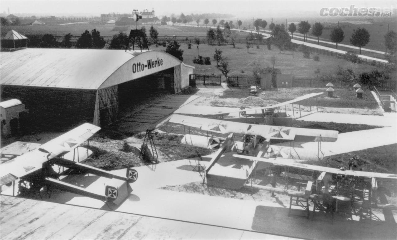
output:
<path id="1" fill-rule="evenodd" d="M 1 84 L 100 89 L 181 64 L 163 51 L 27 48 L 0 55 Z"/>

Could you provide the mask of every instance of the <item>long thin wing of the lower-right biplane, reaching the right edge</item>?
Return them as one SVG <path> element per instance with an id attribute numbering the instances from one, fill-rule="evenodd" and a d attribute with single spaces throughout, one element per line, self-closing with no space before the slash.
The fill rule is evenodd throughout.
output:
<path id="1" fill-rule="evenodd" d="M 295 159 L 279 159 L 279 158 L 262 158 L 262 157 L 250 157 L 247 155 L 238 155 L 233 154 L 233 157 L 241 158 L 241 159 L 249 159 L 252 161 L 261 161 L 265 163 L 273 163 L 283 166 L 289 166 L 293 168 L 301 168 L 306 170 L 314 170 L 319 172 L 329 172 L 333 174 L 342 174 L 349 176 L 357 176 L 357 177 L 366 177 L 366 178 L 389 178 L 389 179 L 397 179 L 397 174 L 389 174 L 389 173 L 381 173 L 381 172 L 363 172 L 363 171 L 354 171 L 354 170 L 340 170 L 337 168 L 330 168 L 326 166 L 316 166 L 309 165 L 304 163 L 297 163 Z"/>

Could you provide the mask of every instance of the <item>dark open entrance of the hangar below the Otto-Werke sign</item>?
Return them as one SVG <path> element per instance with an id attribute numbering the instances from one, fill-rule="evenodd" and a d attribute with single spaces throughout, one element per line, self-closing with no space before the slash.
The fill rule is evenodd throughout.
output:
<path id="1" fill-rule="evenodd" d="M 128 115 L 152 99 L 174 93 L 174 68 L 121 83 L 118 85 L 118 117 Z"/>

